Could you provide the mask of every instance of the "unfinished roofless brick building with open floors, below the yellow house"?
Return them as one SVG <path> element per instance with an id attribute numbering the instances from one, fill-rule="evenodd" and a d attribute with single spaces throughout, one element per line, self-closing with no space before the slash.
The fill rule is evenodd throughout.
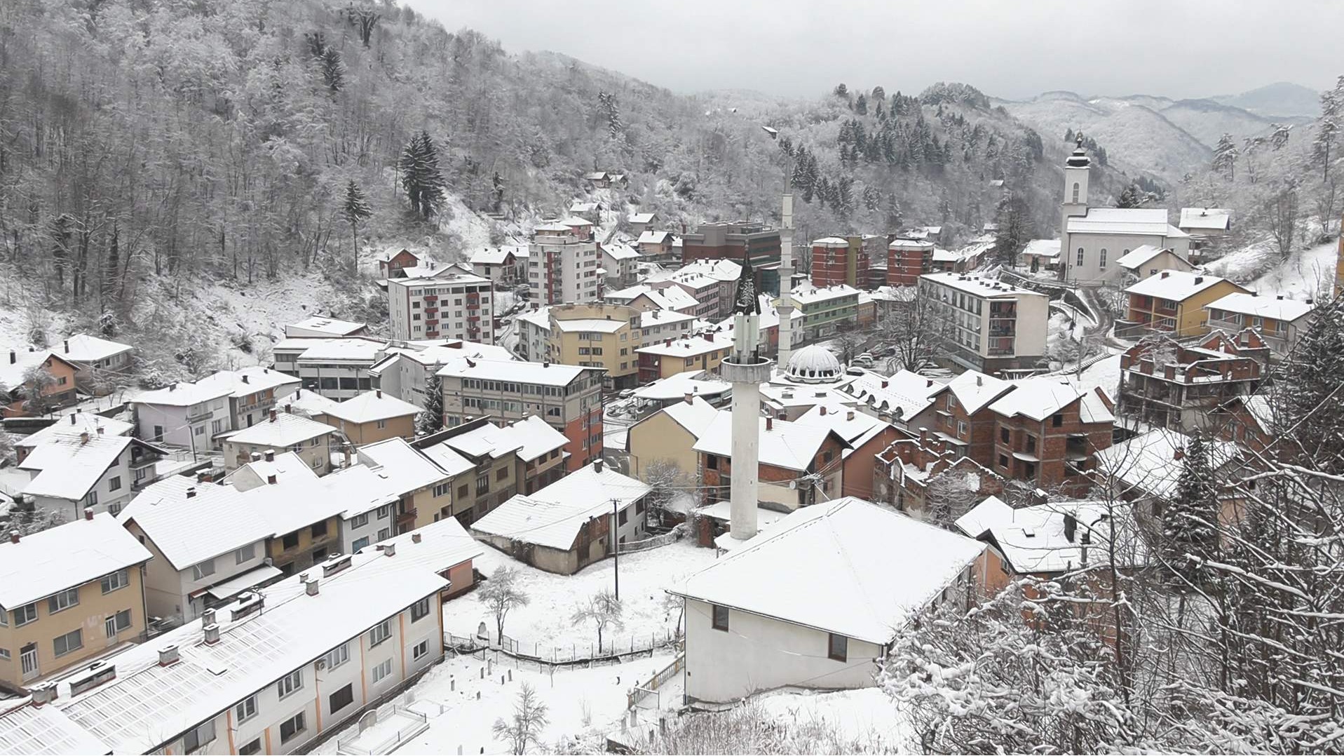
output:
<path id="1" fill-rule="evenodd" d="M 1208 428 L 1216 408 L 1250 397 L 1265 378 L 1262 343 L 1254 331 L 1245 336 L 1242 344 L 1218 331 L 1181 344 L 1159 335 L 1129 347 L 1120 358 L 1121 412 L 1154 428 Z"/>

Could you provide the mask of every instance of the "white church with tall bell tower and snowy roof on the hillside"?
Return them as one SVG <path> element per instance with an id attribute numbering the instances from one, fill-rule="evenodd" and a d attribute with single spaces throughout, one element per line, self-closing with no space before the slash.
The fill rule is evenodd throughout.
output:
<path id="1" fill-rule="evenodd" d="M 1189 234 L 1167 221 L 1165 209 L 1089 207 L 1091 160 L 1078 148 L 1064 163 L 1064 202 L 1060 222 L 1059 278 L 1070 284 L 1101 285 L 1120 280 L 1116 264 L 1142 245 L 1189 257 Z"/>

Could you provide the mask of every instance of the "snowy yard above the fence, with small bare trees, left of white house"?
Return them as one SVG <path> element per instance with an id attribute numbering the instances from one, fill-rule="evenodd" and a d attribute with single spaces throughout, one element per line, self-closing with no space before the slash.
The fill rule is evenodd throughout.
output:
<path id="1" fill-rule="evenodd" d="M 476 569 L 489 576 L 500 565 L 519 570 L 519 582 L 531 603 L 508 613 L 504 635 L 513 638 L 527 652 L 548 655 L 548 648 L 563 648 L 569 655 L 595 650 L 597 631 L 591 623 L 574 624 L 574 609 L 590 596 L 616 587 L 616 561 L 602 560 L 575 574 L 551 574 L 524 565 L 491 546 L 476 560 Z M 714 564 L 714 549 L 700 549 L 689 538 L 668 546 L 621 556 L 622 630 L 603 634 L 603 646 L 614 638 L 617 648 L 646 643 L 649 638 L 675 634 L 680 621 L 680 603 L 668 601 L 664 592 L 700 569 Z M 444 628 L 454 635 L 476 635 L 485 623 L 495 635 L 495 616 L 487 609 L 478 593 L 468 593 L 444 605 Z"/>

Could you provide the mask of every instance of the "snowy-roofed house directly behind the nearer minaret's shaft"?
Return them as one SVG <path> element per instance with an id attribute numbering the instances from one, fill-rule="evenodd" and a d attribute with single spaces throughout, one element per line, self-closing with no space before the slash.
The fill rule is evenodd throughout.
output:
<path id="1" fill-rule="evenodd" d="M 844 451 L 849 443 L 827 426 L 762 417 L 759 502 L 769 508 L 796 510 L 840 496 Z M 732 412 L 719 414 L 696 440 L 699 488 L 706 502 L 728 498 L 732 478 Z"/>

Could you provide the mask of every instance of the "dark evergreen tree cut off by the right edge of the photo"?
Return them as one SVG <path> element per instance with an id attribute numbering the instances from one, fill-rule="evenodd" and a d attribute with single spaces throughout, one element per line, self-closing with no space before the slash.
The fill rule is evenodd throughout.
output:
<path id="1" fill-rule="evenodd" d="M 1275 386 L 1281 456 L 1313 459 L 1327 472 L 1344 472 L 1344 297 L 1312 312 Z"/>

